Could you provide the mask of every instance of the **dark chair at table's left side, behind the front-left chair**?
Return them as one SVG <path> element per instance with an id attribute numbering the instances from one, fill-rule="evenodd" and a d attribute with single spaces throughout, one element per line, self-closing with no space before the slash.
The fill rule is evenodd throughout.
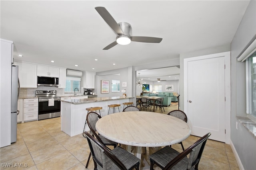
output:
<path id="1" fill-rule="evenodd" d="M 100 141 L 100 143 L 102 143 L 104 146 L 113 146 L 114 148 L 116 148 L 118 143 L 110 141 L 110 140 L 106 139 L 105 137 L 103 137 L 102 135 L 98 135 L 96 133 L 96 131 L 97 131 L 96 130 L 96 122 L 100 118 L 101 118 L 101 116 L 98 113 L 93 112 L 93 111 L 91 111 L 87 114 L 86 120 L 87 120 L 88 127 L 90 128 L 90 133 L 94 137 L 96 137 L 98 139 L 98 141 Z M 88 157 L 88 160 L 87 160 L 87 163 L 86 163 L 86 166 L 85 166 L 86 168 L 88 167 L 90 158 L 91 158 L 91 153 L 89 154 L 89 157 Z"/>

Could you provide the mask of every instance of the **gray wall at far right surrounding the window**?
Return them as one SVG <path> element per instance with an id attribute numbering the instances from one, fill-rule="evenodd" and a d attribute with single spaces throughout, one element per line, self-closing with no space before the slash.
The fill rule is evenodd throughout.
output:
<path id="1" fill-rule="evenodd" d="M 236 118 L 236 115 L 247 117 L 245 62 L 238 62 L 236 58 L 255 37 L 256 1 L 251 0 L 231 43 L 231 141 L 245 170 L 256 169 L 256 139 Z"/>

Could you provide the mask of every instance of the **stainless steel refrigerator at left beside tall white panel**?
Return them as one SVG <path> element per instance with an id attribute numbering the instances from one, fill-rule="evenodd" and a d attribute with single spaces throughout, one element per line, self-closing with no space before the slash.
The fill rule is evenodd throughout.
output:
<path id="1" fill-rule="evenodd" d="M 18 66 L 12 66 L 12 96 L 11 96 L 11 143 L 17 141 L 18 96 L 20 92 L 18 81 Z"/>

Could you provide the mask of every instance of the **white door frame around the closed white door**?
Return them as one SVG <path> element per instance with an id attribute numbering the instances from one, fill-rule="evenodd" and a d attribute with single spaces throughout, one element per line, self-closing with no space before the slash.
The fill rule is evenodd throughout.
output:
<path id="1" fill-rule="evenodd" d="M 184 59 L 184 112 L 188 113 L 188 62 L 202 59 L 224 57 L 225 62 L 225 143 L 230 144 L 230 116 L 231 116 L 231 76 L 230 51 L 203 55 Z"/>

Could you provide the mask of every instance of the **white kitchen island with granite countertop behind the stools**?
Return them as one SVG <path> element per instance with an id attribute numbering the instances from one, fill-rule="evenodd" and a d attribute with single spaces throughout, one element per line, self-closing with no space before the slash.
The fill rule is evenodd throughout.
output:
<path id="1" fill-rule="evenodd" d="M 61 100 L 61 130 L 70 137 L 83 133 L 84 123 L 86 120 L 88 107 L 102 107 L 100 110 L 101 116 L 108 115 L 108 105 L 120 104 L 122 111 L 125 102 L 132 102 L 134 97 L 102 97 L 102 98 L 87 98 L 87 99 L 68 99 Z M 118 109 L 116 108 L 116 112 Z M 98 111 L 97 111 L 98 113 Z M 113 113 L 113 111 L 111 112 Z M 85 131 L 89 131 L 86 125 Z"/>

